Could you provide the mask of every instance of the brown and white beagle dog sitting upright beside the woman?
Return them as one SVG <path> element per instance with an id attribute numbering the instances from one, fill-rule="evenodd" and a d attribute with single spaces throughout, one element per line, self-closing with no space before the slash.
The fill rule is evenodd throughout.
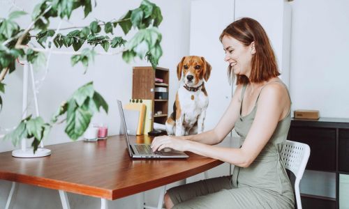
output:
<path id="1" fill-rule="evenodd" d="M 211 65 L 201 56 L 184 56 L 177 65 L 179 89 L 166 121 L 168 135 L 186 136 L 204 130 L 209 98 L 205 89 Z"/>

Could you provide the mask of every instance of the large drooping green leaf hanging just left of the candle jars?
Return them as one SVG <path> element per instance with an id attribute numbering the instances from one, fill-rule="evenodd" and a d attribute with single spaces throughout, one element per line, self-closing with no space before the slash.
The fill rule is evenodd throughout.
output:
<path id="1" fill-rule="evenodd" d="M 67 118 L 66 134 L 70 139 L 76 140 L 82 134 L 84 134 L 87 129 L 92 115 L 89 111 L 78 107 L 70 117 Z"/>

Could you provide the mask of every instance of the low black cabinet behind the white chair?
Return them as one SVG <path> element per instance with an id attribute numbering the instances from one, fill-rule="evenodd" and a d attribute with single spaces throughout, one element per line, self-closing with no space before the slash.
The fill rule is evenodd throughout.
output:
<path id="1" fill-rule="evenodd" d="M 349 174 L 349 119 L 292 119 L 288 139 L 310 146 L 306 169 L 336 173 L 336 199 L 302 194 L 303 208 L 339 208 L 339 173 Z"/>

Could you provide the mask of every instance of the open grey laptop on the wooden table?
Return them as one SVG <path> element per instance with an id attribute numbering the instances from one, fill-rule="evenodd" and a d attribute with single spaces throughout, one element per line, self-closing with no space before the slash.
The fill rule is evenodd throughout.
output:
<path id="1" fill-rule="evenodd" d="M 119 108 L 120 116 L 120 135 L 124 135 L 126 146 L 128 149 L 128 154 L 131 158 L 186 158 L 189 157 L 184 152 L 179 152 L 177 150 L 168 149 L 167 151 L 156 151 L 153 152 L 150 148 L 150 144 L 130 144 L 128 139 L 128 133 L 130 130 L 127 129 L 126 120 L 124 115 L 124 109 L 122 109 L 122 104 L 120 100 L 117 100 L 117 107 Z"/>

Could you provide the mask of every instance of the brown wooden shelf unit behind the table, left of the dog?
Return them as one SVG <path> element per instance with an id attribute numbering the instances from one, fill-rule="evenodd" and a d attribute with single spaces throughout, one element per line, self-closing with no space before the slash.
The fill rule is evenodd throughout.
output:
<path id="1" fill-rule="evenodd" d="M 155 98 L 155 87 L 167 88 L 169 92 L 169 75 L 167 68 L 157 67 L 154 70 L 151 66 L 133 67 L 132 98 L 153 101 L 153 123 L 165 124 L 168 118 L 168 100 Z M 155 78 L 163 79 L 163 83 L 155 82 Z M 155 116 L 158 111 L 162 113 Z"/>

